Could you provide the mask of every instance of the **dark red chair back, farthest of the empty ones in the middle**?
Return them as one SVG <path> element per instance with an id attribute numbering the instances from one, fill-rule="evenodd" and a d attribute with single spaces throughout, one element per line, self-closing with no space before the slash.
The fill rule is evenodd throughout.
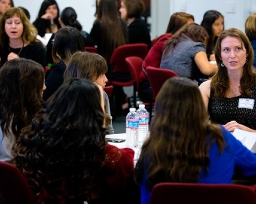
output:
<path id="1" fill-rule="evenodd" d="M 144 43 L 132 43 L 124 44 L 115 48 L 110 58 L 110 64 L 112 66 L 112 72 L 115 73 L 130 73 L 126 66 L 125 58 L 136 56 L 144 59 L 148 52 L 148 47 Z"/>

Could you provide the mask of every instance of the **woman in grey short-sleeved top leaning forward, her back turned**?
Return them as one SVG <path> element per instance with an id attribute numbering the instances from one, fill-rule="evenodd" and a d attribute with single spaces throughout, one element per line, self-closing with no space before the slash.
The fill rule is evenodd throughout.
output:
<path id="1" fill-rule="evenodd" d="M 217 72 L 218 67 L 207 59 L 207 41 L 208 34 L 201 25 L 185 25 L 166 41 L 160 67 L 198 82 L 201 78 L 208 78 Z"/>

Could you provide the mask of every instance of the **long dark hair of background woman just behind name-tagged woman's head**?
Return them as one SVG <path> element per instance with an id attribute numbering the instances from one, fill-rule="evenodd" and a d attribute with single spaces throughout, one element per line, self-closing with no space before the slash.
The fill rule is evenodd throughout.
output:
<path id="1" fill-rule="evenodd" d="M 209 35 L 209 40 L 206 46 L 206 53 L 210 54 L 212 52 L 212 49 L 215 47 L 215 43 L 217 41 L 217 36 L 214 36 L 214 33 L 212 32 L 212 24 L 219 18 L 222 17 L 224 21 L 224 16 L 216 10 L 209 10 L 204 13 L 203 20 L 201 22 L 202 27 L 207 31 Z M 223 30 L 224 30 L 224 22 L 223 22 Z"/>

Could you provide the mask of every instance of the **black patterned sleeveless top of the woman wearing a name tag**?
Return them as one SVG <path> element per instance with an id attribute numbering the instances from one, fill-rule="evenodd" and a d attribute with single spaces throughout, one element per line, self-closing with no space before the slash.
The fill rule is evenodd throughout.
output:
<path id="1" fill-rule="evenodd" d="M 256 130 L 256 83 L 251 87 L 252 94 L 242 94 L 233 98 L 216 98 L 214 90 L 210 91 L 208 112 L 210 120 L 219 124 L 226 124 L 232 120 Z M 249 99 L 243 101 L 244 99 Z M 240 105 L 240 108 L 239 108 Z M 242 107 L 247 106 L 247 108 Z M 252 109 L 251 109 L 252 108 Z"/>

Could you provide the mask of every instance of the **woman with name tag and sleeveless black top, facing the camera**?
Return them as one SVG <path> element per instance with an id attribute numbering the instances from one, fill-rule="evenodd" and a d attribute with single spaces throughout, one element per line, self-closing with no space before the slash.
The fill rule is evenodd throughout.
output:
<path id="1" fill-rule="evenodd" d="M 199 87 L 210 121 L 230 132 L 236 128 L 256 132 L 253 55 L 251 43 L 241 30 L 223 31 L 215 49 L 218 72 Z"/>

